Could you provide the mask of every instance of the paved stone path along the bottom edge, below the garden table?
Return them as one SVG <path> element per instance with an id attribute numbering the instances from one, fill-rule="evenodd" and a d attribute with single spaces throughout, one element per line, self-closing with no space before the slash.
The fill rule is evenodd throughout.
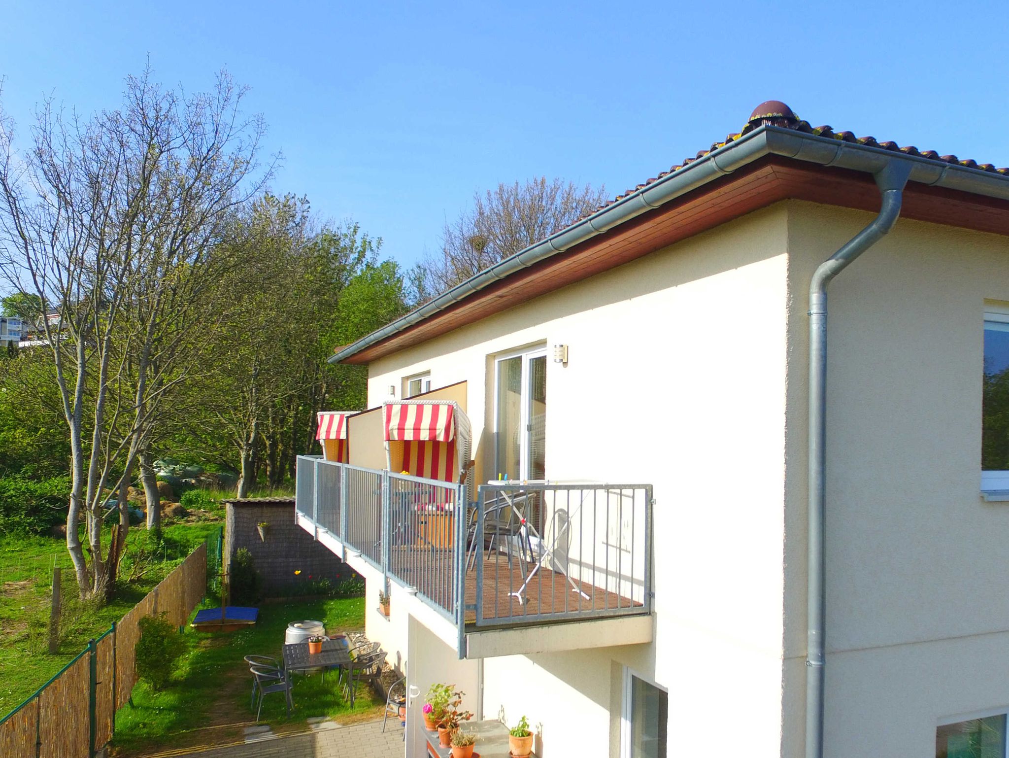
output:
<path id="1" fill-rule="evenodd" d="M 341 727 L 333 722 L 312 724 L 312 732 L 277 737 L 268 727 L 250 729 L 245 744 L 187 753 L 187 758 L 403 758 L 403 727 L 390 719 Z"/>

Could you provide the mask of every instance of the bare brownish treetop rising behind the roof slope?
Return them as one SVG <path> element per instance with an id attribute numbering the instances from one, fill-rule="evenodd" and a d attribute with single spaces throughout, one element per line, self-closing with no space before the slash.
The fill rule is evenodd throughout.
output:
<path id="1" fill-rule="evenodd" d="M 474 193 L 473 207 L 445 223 L 440 255 L 428 256 L 413 272 L 419 300 L 455 287 L 598 208 L 605 189 L 575 187 L 539 177 L 499 184 L 493 192 Z"/>

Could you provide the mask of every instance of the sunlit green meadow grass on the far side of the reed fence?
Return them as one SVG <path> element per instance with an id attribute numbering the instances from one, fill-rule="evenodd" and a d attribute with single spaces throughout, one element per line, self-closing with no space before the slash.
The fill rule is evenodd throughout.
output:
<path id="1" fill-rule="evenodd" d="M 64 665 L 175 568 L 220 522 L 173 524 L 157 550 L 141 527 L 130 530 L 120 581 L 110 603 L 82 602 L 63 540 L 46 537 L 0 541 L 0 717 L 54 675 Z M 108 545 L 108 532 L 103 535 Z M 63 569 L 63 613 L 59 651 L 48 653 L 52 566 Z"/>

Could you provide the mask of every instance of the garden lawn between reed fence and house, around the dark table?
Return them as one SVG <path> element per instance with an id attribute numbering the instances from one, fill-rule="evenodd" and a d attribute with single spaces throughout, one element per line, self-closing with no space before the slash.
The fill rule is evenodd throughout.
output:
<path id="1" fill-rule="evenodd" d="M 183 633 L 187 653 L 180 660 L 172 684 L 154 691 L 140 681 L 133 689 L 133 706 L 116 717 L 112 743 L 116 756 L 143 755 L 158 749 L 222 745 L 241 739 L 242 727 L 255 721 L 249 707 L 251 675 L 243 657 L 270 655 L 279 659 L 288 624 L 317 619 L 329 634 L 362 629 L 364 599 L 332 599 L 264 605 L 256 624 L 237 632 Z M 283 693 L 267 694 L 262 722 L 274 732 L 300 731 L 306 719 L 330 717 L 351 724 L 380 717 L 384 700 L 361 685 L 354 708 L 346 703 L 337 685 L 336 671 L 296 674 L 292 695 L 295 710 L 285 714 Z"/>

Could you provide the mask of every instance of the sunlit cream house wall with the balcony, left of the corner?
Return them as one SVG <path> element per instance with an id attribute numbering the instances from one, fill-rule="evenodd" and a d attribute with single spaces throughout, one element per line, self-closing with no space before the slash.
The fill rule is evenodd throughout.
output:
<path id="1" fill-rule="evenodd" d="M 494 355 L 567 344 L 566 366 L 548 355 L 547 476 L 655 486 L 655 642 L 485 661 L 484 715 L 528 712 L 546 758 L 616 749 L 622 665 L 669 689 L 670 755 L 709 754 L 726 722 L 750 754 L 780 750 L 786 214 L 755 212 L 370 365 L 369 406 L 422 371 L 432 387 L 466 380 L 489 476 Z"/>

